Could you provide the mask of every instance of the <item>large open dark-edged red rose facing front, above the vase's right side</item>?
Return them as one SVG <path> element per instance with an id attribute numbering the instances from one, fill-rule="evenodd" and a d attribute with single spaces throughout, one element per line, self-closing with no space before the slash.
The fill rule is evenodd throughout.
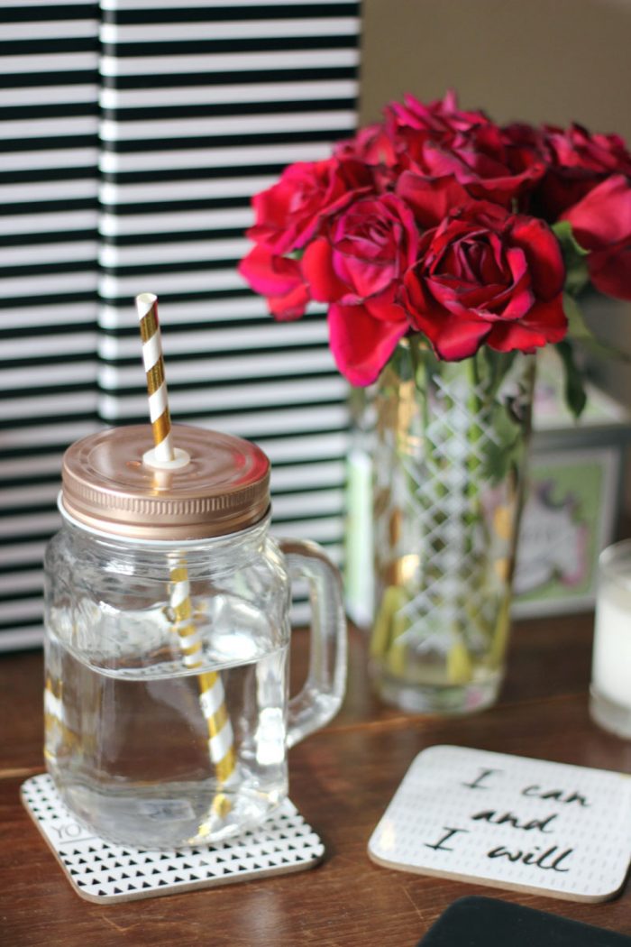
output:
<path id="1" fill-rule="evenodd" d="M 458 361 L 482 343 L 532 351 L 567 331 L 565 269 L 547 224 L 480 202 L 422 239 L 405 278 L 412 325 L 440 358 Z"/>

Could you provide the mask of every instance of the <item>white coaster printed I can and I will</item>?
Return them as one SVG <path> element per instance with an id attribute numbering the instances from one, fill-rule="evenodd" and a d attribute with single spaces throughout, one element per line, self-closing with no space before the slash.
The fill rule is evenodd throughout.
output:
<path id="1" fill-rule="evenodd" d="M 430 746 L 413 760 L 368 853 L 384 867 L 606 901 L 631 858 L 631 777 Z"/>

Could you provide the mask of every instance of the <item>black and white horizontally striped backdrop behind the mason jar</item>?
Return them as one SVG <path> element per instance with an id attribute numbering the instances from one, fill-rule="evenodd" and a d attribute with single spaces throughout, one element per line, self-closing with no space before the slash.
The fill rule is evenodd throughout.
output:
<path id="1" fill-rule="evenodd" d="M 0 0 L 0 650 L 42 637 L 68 443 L 172 414 L 271 456 L 278 532 L 342 547 L 345 384 L 324 313 L 279 325 L 236 264 L 250 196 L 357 119 L 359 2 Z"/>

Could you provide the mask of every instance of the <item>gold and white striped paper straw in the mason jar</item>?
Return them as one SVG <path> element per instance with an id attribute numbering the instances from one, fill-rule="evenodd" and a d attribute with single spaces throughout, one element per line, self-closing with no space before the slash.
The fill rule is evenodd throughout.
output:
<path id="1" fill-rule="evenodd" d="M 143 362 L 147 372 L 149 392 L 149 417 L 153 432 L 156 467 L 175 459 L 171 435 L 171 420 L 168 411 L 167 381 L 162 353 L 162 338 L 158 321 L 158 299 L 152 293 L 136 296 L 136 310 L 140 320 L 140 335 L 143 343 Z M 185 667 L 194 670 L 202 667 L 202 635 L 197 627 L 191 606 L 188 568 L 183 558 L 169 564 L 170 606 L 173 612 L 174 631 L 180 636 L 184 652 Z M 219 783 L 223 785 L 234 773 L 236 754 L 232 724 L 225 706 L 225 695 L 221 677 L 217 671 L 204 671 L 198 675 L 200 705 L 208 726 L 208 750 L 215 765 Z M 219 815 L 227 813 L 230 802 L 219 794 L 213 811 Z M 209 822 L 203 823 L 198 835 L 210 831 Z"/>

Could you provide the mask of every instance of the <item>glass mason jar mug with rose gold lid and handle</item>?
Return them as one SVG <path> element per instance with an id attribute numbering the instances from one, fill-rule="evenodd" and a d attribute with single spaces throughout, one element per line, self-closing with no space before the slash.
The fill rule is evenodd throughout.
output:
<path id="1" fill-rule="evenodd" d="M 148 426 L 70 447 L 45 558 L 49 773 L 83 822 L 143 848 L 264 821 L 288 747 L 335 715 L 346 670 L 338 573 L 319 546 L 269 535 L 267 457 L 198 428 L 174 438 L 167 469 Z M 312 609 L 291 699 L 289 577 Z"/>

